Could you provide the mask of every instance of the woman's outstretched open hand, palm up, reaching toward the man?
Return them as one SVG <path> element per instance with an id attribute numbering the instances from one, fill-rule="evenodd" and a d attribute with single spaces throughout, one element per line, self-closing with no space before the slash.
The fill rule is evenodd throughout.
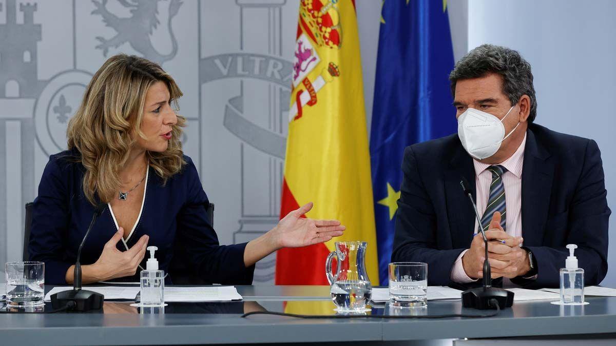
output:
<path id="1" fill-rule="evenodd" d="M 272 230 L 278 248 L 301 247 L 325 243 L 334 236 L 341 236 L 346 227 L 337 220 L 312 220 L 301 216 L 312 209 L 312 202 L 299 207 L 278 222 Z"/>

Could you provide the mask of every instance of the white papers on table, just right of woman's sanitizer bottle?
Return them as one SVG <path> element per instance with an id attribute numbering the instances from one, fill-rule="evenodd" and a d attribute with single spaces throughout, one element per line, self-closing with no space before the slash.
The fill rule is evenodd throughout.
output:
<path id="1" fill-rule="evenodd" d="M 229 302 L 241 299 L 235 286 L 164 288 L 165 302 Z"/>

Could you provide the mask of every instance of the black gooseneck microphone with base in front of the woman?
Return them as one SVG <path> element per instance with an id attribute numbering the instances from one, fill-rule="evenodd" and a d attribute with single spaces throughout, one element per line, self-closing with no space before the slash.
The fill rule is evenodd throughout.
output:
<path id="1" fill-rule="evenodd" d="M 73 289 L 71 291 L 62 291 L 52 294 L 51 305 L 54 309 L 71 306 L 72 308 L 70 308 L 70 310 L 85 312 L 89 310 L 100 310 L 103 307 L 104 296 L 102 294 L 81 289 L 81 263 L 79 260 L 81 259 L 81 249 L 83 249 L 83 244 L 86 243 L 87 235 L 90 234 L 90 230 L 92 230 L 96 219 L 105 211 L 105 207 L 107 207 L 105 203 L 99 203 L 95 207 L 92 221 L 87 227 L 86 234 L 83 236 L 77 251 L 75 271 L 73 272 Z"/>

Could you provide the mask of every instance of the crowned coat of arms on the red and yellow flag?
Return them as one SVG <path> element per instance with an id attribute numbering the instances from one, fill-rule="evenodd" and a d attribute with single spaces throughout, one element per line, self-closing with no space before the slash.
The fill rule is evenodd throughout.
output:
<path id="1" fill-rule="evenodd" d="M 315 47 L 342 47 L 342 25 L 337 4 L 338 0 L 301 0 L 293 60 L 293 89 L 299 90 L 289 110 L 289 121 L 302 117 L 302 107 L 317 104 L 318 91 L 340 75 L 338 65 L 329 62 L 327 66 L 322 66 L 321 73 L 314 80 L 307 77 L 321 62 Z"/>

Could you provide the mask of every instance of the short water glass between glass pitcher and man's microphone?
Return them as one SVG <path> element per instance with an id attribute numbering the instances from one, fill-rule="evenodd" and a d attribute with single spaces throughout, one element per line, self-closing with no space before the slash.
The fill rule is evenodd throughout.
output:
<path id="1" fill-rule="evenodd" d="M 428 264 L 395 262 L 389 264 L 389 301 L 400 307 L 428 305 Z"/>

